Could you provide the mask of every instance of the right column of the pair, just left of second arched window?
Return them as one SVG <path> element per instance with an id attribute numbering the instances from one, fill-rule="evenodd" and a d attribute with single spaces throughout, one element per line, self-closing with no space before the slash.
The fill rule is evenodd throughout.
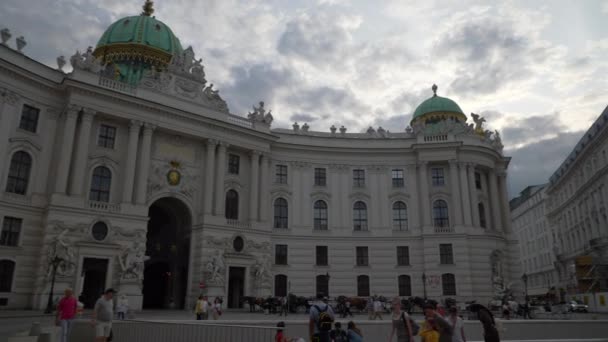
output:
<path id="1" fill-rule="evenodd" d="M 91 126 L 95 111 L 83 108 L 76 140 L 76 158 L 72 165 L 72 183 L 70 184 L 70 195 L 82 196 L 84 187 L 84 175 L 87 171 L 87 155 L 89 154 L 89 141 L 91 140 Z"/>

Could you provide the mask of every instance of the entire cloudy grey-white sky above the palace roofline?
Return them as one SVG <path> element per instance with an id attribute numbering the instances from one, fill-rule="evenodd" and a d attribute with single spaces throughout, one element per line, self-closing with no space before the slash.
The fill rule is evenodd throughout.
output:
<path id="1" fill-rule="evenodd" d="M 55 67 L 143 0 L 3 0 L 0 25 Z M 156 0 L 231 112 L 274 127 L 403 131 L 439 86 L 502 132 L 511 195 L 543 183 L 608 104 L 608 1 Z"/>

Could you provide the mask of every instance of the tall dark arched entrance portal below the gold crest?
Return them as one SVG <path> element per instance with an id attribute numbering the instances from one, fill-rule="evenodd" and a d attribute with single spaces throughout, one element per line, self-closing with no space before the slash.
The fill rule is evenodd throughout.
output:
<path id="1" fill-rule="evenodd" d="M 192 217 L 180 200 L 165 197 L 148 212 L 143 308 L 183 309 L 188 283 Z"/>

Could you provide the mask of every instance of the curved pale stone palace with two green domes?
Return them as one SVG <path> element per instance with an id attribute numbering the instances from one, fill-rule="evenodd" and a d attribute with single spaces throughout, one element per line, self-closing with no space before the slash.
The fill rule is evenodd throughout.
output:
<path id="1" fill-rule="evenodd" d="M 498 133 L 435 95 L 411 126 L 233 115 L 144 12 L 49 68 L 0 46 L 0 308 L 114 287 L 134 309 L 243 296 L 489 300 L 520 276 Z M 430 94 L 431 95 L 431 94 Z"/>

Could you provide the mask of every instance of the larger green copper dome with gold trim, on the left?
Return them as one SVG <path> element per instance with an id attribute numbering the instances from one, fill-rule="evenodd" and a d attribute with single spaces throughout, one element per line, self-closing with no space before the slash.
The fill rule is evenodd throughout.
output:
<path id="1" fill-rule="evenodd" d="M 152 16 L 152 5 L 146 1 L 141 15 L 119 19 L 99 39 L 93 55 L 106 66 L 106 76 L 137 85 L 146 71 L 166 69 L 173 56 L 182 55 L 173 31 Z"/>

